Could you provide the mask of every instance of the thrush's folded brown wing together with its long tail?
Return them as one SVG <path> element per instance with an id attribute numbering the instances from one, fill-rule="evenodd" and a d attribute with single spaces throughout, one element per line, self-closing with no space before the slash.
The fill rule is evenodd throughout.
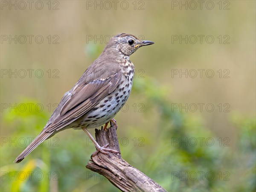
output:
<path id="1" fill-rule="evenodd" d="M 60 104 L 52 113 L 49 121 L 41 133 L 30 143 L 26 149 L 15 159 L 15 163 L 22 161 L 40 143 L 52 137 L 66 125 L 75 121 L 97 105 L 105 96 L 117 88 L 122 73 L 111 73 L 107 78 L 102 79 L 101 74 L 93 79 L 94 74 L 84 73 L 78 83 L 61 99 Z M 86 79 L 87 77 L 87 79 Z"/>

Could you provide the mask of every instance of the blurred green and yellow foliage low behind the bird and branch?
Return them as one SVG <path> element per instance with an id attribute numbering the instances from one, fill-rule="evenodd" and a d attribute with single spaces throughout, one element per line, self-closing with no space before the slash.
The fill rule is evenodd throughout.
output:
<path id="1" fill-rule="evenodd" d="M 143 145 L 120 145 L 122 157 L 168 191 L 255 191 L 255 119 L 231 115 L 230 121 L 239 131 L 231 148 L 228 138 L 216 137 L 199 117 L 173 112 L 168 91 L 154 79 L 135 79 L 133 94 L 143 98 L 149 109 L 144 115 L 150 118 L 157 114 L 158 122 L 155 133 L 129 128 L 131 138 L 144 135 Z M 37 103 L 34 99 L 21 102 Z M 48 117 L 49 113 L 33 110 L 4 114 L 6 124 L 16 126 L 12 140 L 28 137 L 28 128 L 35 136 Z M 74 132 L 75 137 L 81 133 Z M 101 175 L 85 168 L 94 147 L 84 134 L 77 140 L 60 134 L 56 135 L 59 147 L 44 143 L 19 164 L 12 160 L 24 146 L 1 140 L 1 191 L 118 191 Z"/>

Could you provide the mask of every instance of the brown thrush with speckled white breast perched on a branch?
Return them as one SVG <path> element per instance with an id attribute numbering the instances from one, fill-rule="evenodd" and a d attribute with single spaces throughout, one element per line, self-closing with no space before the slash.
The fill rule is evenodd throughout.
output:
<path id="1" fill-rule="evenodd" d="M 99 57 L 85 70 L 76 84 L 62 97 L 41 133 L 15 159 L 21 162 L 44 140 L 67 128 L 82 129 L 93 141 L 96 150 L 104 154 L 118 153 L 100 146 L 88 131 L 108 122 L 115 123 L 113 117 L 127 101 L 132 88 L 134 64 L 131 54 L 143 46 L 154 44 L 141 41 L 136 36 L 121 33 L 113 36 Z"/>

